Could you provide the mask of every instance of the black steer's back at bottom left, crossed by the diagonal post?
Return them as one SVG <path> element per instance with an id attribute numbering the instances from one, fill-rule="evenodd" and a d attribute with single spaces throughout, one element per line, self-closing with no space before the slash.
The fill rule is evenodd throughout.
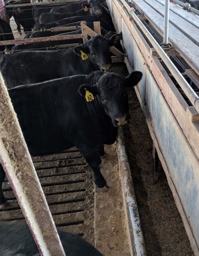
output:
<path id="1" fill-rule="evenodd" d="M 76 234 L 57 229 L 67 256 L 102 256 L 90 243 Z M 35 240 L 25 221 L 0 222 L 1 256 L 40 256 Z"/>

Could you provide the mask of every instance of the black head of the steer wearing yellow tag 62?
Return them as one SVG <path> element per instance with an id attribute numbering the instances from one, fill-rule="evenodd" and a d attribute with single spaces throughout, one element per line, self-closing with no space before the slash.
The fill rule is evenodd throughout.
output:
<path id="1" fill-rule="evenodd" d="M 92 93 L 94 100 L 98 96 L 106 114 L 111 118 L 114 126 L 124 126 L 128 123 L 129 104 L 127 87 L 133 87 L 142 78 L 140 71 L 133 71 L 127 77 L 115 73 L 103 74 L 94 86 L 81 85 L 78 92 L 86 96 L 86 90 Z"/>

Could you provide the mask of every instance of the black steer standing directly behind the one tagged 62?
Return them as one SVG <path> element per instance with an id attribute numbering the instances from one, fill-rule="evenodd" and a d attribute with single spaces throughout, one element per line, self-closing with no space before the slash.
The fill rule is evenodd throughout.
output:
<path id="1" fill-rule="evenodd" d="M 97 35 L 83 45 L 65 50 L 23 51 L 4 55 L 0 59 L 1 72 L 8 88 L 69 75 L 89 74 L 99 69 L 109 72 L 109 47 L 117 44 L 120 38 L 120 34 L 110 39 Z"/>

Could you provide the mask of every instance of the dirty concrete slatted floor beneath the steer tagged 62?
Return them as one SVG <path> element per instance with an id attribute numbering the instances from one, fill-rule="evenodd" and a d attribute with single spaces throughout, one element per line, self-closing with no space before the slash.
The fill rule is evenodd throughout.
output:
<path id="1" fill-rule="evenodd" d="M 84 158 L 73 148 L 61 154 L 33 157 L 33 162 L 56 226 L 94 244 L 94 182 Z M 3 191 L 9 204 L 0 209 L 0 219 L 23 220 L 7 179 Z"/>

